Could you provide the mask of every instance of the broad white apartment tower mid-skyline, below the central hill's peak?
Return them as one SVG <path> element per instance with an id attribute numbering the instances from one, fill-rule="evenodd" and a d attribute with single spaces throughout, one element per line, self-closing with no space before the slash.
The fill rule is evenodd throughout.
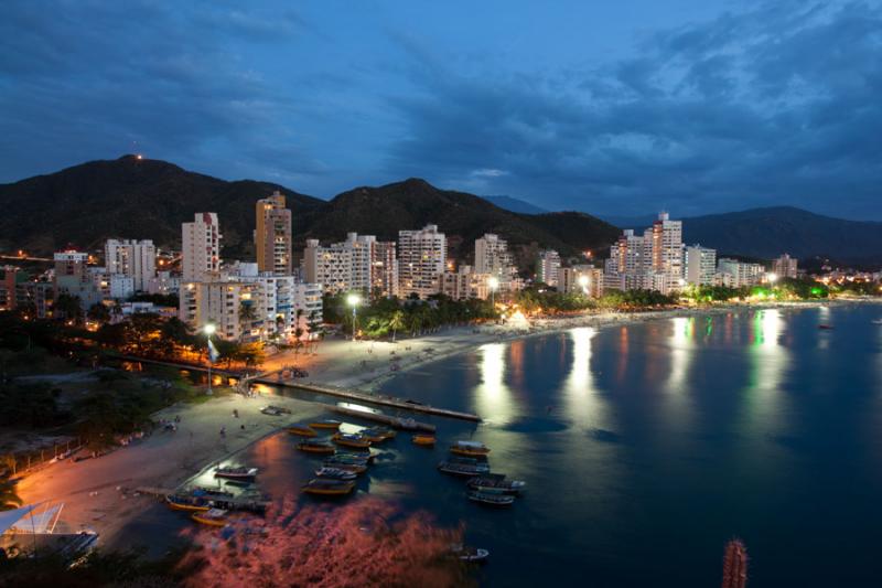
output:
<path id="1" fill-rule="evenodd" d="M 438 225 L 398 232 L 398 290 L 426 298 L 441 291 L 441 275 L 448 257 L 448 239 Z"/>

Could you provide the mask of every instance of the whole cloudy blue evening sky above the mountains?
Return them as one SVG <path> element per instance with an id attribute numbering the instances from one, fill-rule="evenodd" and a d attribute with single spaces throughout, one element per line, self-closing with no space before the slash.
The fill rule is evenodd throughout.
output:
<path id="1" fill-rule="evenodd" d="M 882 1 L 6 0 L 0 113 L 0 182 L 143 152 L 320 197 L 882 220 Z"/>

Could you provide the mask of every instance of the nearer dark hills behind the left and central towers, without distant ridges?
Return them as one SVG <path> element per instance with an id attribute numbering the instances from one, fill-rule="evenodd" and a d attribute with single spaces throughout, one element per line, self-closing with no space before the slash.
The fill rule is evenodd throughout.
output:
<path id="1" fill-rule="evenodd" d="M 94 250 L 108 237 L 152 238 L 159 246 L 178 248 L 181 223 L 196 212 L 216 212 L 223 254 L 247 259 L 254 255 L 255 202 L 275 190 L 288 196 L 298 253 L 308 238 L 335 242 L 358 232 L 395 239 L 399 229 L 432 223 L 448 235 L 451 255 L 459 259 L 473 255 L 475 238 L 498 233 L 526 265 L 538 247 L 576 254 L 609 245 L 619 233 L 584 213 L 514 213 L 420 179 L 356 188 L 324 201 L 273 183 L 227 182 L 164 161 L 123 156 L 0 185 L 6 211 L 0 215 L 0 250 L 45 255 L 68 244 Z"/>

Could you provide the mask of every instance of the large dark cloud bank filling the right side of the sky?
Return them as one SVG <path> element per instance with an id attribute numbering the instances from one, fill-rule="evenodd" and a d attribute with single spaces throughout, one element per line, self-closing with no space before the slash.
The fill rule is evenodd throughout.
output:
<path id="1" fill-rule="evenodd" d="M 880 218 L 881 32 L 878 4 L 774 2 L 658 32 L 563 89 L 548 73 L 462 76 L 405 45 L 426 92 L 394 103 L 408 132 L 388 165 L 553 207 Z"/>

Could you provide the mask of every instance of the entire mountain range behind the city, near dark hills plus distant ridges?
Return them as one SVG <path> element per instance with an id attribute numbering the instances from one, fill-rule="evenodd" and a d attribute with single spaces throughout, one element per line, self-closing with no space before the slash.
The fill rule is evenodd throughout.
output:
<path id="1" fill-rule="evenodd" d="M 451 255 L 471 261 L 473 242 L 484 233 L 508 239 L 527 266 L 539 247 L 576 255 L 602 250 L 620 229 L 643 228 L 653 216 L 606 217 L 583 212 L 545 212 L 510 196 L 476 196 L 409 179 L 362 186 L 321 200 L 254 180 L 225 181 L 160 160 L 123 156 L 90 161 L 55 173 L 0 184 L 0 252 L 51 254 L 67 245 L 95 250 L 108 237 L 152 238 L 178 248 L 181 223 L 196 212 L 216 212 L 224 255 L 254 256 L 255 201 L 279 190 L 293 211 L 294 249 L 308 238 L 324 243 L 347 232 L 395 239 L 399 229 L 437 224 Z M 509 207 L 516 210 L 508 210 Z M 882 263 L 882 223 L 845 221 L 792 206 L 684 218 L 684 240 L 719 255 L 770 259 L 789 253 L 807 259 L 872 266 Z"/>

